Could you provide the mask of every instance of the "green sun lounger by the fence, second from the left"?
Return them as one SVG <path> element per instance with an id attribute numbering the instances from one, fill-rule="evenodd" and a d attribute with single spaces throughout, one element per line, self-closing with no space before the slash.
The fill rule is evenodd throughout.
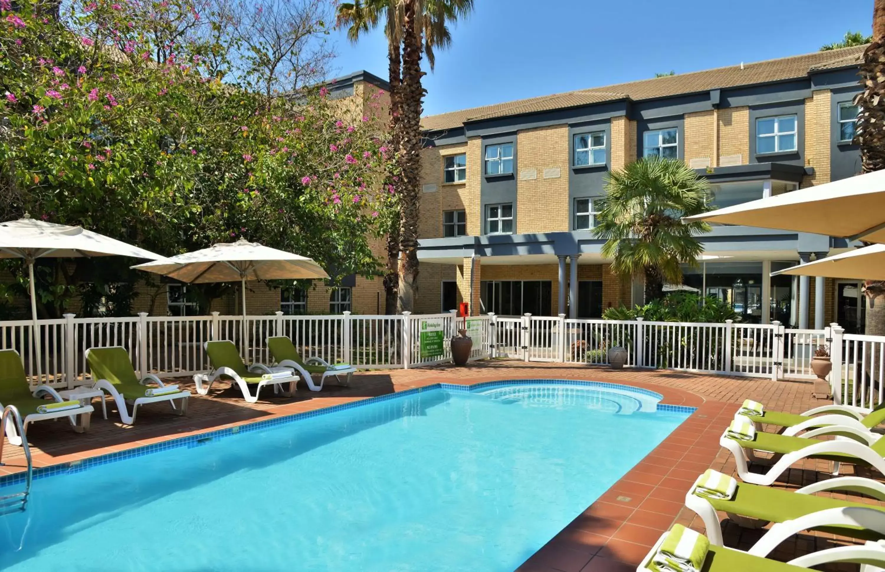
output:
<path id="1" fill-rule="evenodd" d="M 90 347 L 85 354 L 92 379 L 95 381 L 92 386 L 113 398 L 117 404 L 119 418 L 123 423 L 127 425 L 135 423 L 135 415 L 138 413 L 139 407 L 158 401 L 168 401 L 180 416 L 188 412 L 190 392 L 171 391 L 172 389 L 177 390 L 178 386 L 167 386 L 152 373 L 139 379 L 125 347 Z M 164 387 L 168 387 L 169 391 L 164 390 Z M 127 405 L 132 406 L 131 414 Z"/>

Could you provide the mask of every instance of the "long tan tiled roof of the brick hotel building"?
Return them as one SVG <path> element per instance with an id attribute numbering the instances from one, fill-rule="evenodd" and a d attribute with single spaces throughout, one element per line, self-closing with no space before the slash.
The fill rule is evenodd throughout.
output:
<path id="1" fill-rule="evenodd" d="M 515 102 L 495 103 L 471 109 L 431 115 L 421 119 L 421 126 L 428 130 L 451 129 L 476 119 L 503 118 L 536 111 L 550 111 L 579 107 L 590 103 L 603 103 L 629 98 L 634 101 L 656 99 L 672 95 L 691 94 L 716 88 L 766 83 L 769 81 L 804 78 L 809 72 L 831 70 L 857 65 L 866 45 L 842 50 L 816 51 L 802 56 L 781 57 L 763 62 L 729 65 L 703 72 L 652 78 L 650 80 L 581 89 L 562 94 L 542 95 Z"/>

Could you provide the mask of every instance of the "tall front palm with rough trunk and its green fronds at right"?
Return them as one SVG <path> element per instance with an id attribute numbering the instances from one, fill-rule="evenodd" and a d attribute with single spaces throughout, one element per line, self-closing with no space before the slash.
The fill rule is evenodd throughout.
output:
<path id="1" fill-rule="evenodd" d="M 418 291 L 418 197 L 420 186 L 421 55 L 431 69 L 433 48 L 451 42 L 448 24 L 473 10 L 473 0 L 399 0 L 403 7 L 403 78 L 400 83 L 399 287 L 396 309 L 412 310 Z"/>

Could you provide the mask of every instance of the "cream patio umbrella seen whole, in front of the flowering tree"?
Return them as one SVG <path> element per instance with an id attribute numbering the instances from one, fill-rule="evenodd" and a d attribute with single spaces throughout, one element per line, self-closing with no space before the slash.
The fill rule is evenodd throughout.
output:
<path id="1" fill-rule="evenodd" d="M 239 280 L 243 332 L 246 327 L 246 280 L 329 277 L 318 263 L 306 256 L 262 246 L 243 238 L 152 263 L 138 264 L 133 268 L 194 284 Z"/>

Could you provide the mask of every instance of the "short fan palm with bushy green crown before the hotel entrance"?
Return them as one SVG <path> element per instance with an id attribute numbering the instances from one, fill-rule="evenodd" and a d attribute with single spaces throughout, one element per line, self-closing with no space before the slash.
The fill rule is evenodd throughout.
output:
<path id="1" fill-rule="evenodd" d="M 705 212 L 706 179 L 676 159 L 647 157 L 609 175 L 593 234 L 605 239 L 602 255 L 620 276 L 645 276 L 645 301 L 662 296 L 665 282 L 681 284 L 680 264 L 696 264 L 704 222 L 682 217 Z"/>

